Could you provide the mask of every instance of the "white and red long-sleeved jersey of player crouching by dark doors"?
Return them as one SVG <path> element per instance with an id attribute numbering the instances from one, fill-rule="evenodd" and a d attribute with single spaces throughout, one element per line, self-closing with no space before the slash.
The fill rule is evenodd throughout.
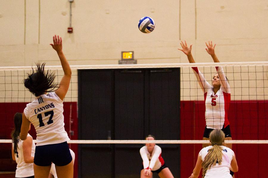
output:
<path id="1" fill-rule="evenodd" d="M 162 150 L 158 145 L 155 145 L 152 155 L 150 155 L 147 147 L 141 147 L 140 154 L 143 160 L 144 169 L 151 168 L 152 171 L 158 170 L 161 166 L 164 165 L 164 159 L 161 156 Z"/>

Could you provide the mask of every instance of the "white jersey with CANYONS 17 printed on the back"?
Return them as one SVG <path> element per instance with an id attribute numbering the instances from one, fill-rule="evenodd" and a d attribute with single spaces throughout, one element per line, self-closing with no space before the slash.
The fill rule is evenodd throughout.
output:
<path id="1" fill-rule="evenodd" d="M 35 127 L 36 146 L 70 140 L 64 129 L 63 101 L 55 92 L 36 97 L 27 104 L 24 114 Z"/>

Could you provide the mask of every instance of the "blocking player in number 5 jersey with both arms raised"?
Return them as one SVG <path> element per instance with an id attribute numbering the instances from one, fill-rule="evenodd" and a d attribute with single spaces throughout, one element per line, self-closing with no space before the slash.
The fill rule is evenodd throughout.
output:
<path id="1" fill-rule="evenodd" d="M 181 41 L 180 43 L 183 53 L 187 55 L 188 61 L 190 63 L 195 63 L 194 58 L 191 54 L 192 45 L 187 46 L 187 43 Z M 219 62 L 217 56 L 215 55 L 212 41 L 206 43 L 206 51 L 211 55 L 214 62 Z M 205 119 L 206 127 L 203 134 L 203 140 L 209 139 L 209 134 L 213 129 L 222 129 L 225 133 L 225 139 L 231 140 L 231 131 L 228 121 L 228 108 L 230 105 L 231 95 L 230 86 L 227 78 L 225 77 L 222 67 L 216 67 L 217 73 L 213 76 L 212 85 L 210 85 L 204 78 L 204 75 L 200 72 L 197 67 L 192 67 L 193 71 L 196 73 L 197 81 L 204 92 L 205 97 Z M 232 148 L 232 144 L 226 144 L 228 147 Z M 208 146 L 208 144 L 203 144 L 203 147 Z"/>

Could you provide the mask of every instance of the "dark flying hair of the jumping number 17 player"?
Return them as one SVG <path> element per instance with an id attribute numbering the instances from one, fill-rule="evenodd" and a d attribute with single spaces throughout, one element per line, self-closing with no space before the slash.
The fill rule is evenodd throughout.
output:
<path id="1" fill-rule="evenodd" d="M 58 84 L 54 83 L 55 73 L 45 71 L 46 63 L 35 64 L 37 68 L 35 70 L 32 68 L 32 74 L 27 74 L 28 78 L 24 79 L 24 86 L 35 96 L 55 91 L 55 88 L 58 88 Z"/>

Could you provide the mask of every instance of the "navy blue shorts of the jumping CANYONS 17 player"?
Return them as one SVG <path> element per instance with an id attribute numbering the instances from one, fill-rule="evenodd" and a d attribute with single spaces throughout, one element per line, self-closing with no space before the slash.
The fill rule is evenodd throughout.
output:
<path id="1" fill-rule="evenodd" d="M 72 156 L 67 142 L 35 147 L 34 163 L 37 166 L 66 166 L 71 163 Z"/>

